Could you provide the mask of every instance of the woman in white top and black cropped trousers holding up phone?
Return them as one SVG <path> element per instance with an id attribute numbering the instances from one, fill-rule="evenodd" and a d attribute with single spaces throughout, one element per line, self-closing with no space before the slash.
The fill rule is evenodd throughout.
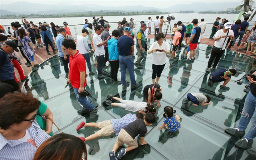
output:
<path id="1" fill-rule="evenodd" d="M 165 37 L 163 33 L 156 34 L 155 38 L 156 42 L 151 45 L 148 54 L 152 53 L 153 55 L 152 83 L 159 85 L 158 81 L 160 79 L 162 71 L 164 70 L 164 66 L 166 63 L 166 54 L 170 54 L 170 47 L 169 44 L 164 41 Z"/>

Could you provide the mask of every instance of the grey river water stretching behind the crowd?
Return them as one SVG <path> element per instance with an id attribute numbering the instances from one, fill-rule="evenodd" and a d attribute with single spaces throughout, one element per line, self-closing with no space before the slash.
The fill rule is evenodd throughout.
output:
<path id="1" fill-rule="evenodd" d="M 233 22 L 234 19 L 236 18 L 236 14 L 198 14 L 198 13 L 192 13 L 192 14 L 181 14 L 181 13 L 175 13 L 175 14 L 169 14 L 169 15 L 173 15 L 175 16 L 175 20 L 171 21 L 171 28 L 173 27 L 175 22 L 178 21 L 182 21 L 182 22 L 186 22 L 186 21 L 190 21 L 192 22 L 192 20 L 194 18 L 197 18 L 198 21 L 200 22 L 200 20 L 202 18 L 204 18 L 205 22 L 209 23 L 206 26 L 206 32 L 205 35 L 210 35 L 211 33 L 211 28 L 212 28 L 212 24 L 215 21 L 216 17 L 220 17 L 220 18 L 226 18 L 227 20 L 229 20 L 229 22 Z M 152 17 L 152 21 L 154 21 L 156 19 L 157 15 L 134 15 L 134 16 L 104 16 L 103 19 L 107 20 L 108 22 L 110 22 L 110 25 L 112 26 L 110 28 L 110 33 L 112 32 L 112 30 L 117 28 L 117 22 L 118 21 L 122 21 L 123 18 L 125 17 L 126 20 L 129 22 L 130 18 L 134 19 L 134 22 L 136 23 L 136 30 L 139 29 L 139 23 L 141 20 L 145 21 L 146 23 L 148 22 L 148 17 L 151 16 Z M 165 15 L 159 15 L 159 16 L 164 16 L 164 19 L 166 20 L 166 17 L 168 16 L 168 14 Z M 82 26 L 84 24 L 84 19 L 87 18 L 89 20 L 89 23 L 92 23 L 92 16 L 90 17 L 68 17 L 68 18 L 25 18 L 29 21 L 32 21 L 36 24 L 38 24 L 38 22 L 48 22 L 50 24 L 50 22 L 54 22 L 55 25 L 58 26 L 62 26 L 63 22 L 66 21 L 68 23 L 68 25 L 70 26 L 70 30 L 72 32 L 72 36 L 75 36 L 76 34 L 79 34 L 80 31 L 82 30 Z M 250 24 L 254 24 L 256 20 L 256 17 L 253 18 L 253 20 L 250 22 Z M 1 19 L 0 20 L 0 24 L 2 25 L 10 25 L 11 22 L 21 22 L 21 18 L 20 19 Z M 80 24 L 80 25 L 78 25 Z M 165 29 L 167 27 L 168 23 L 165 23 L 163 28 L 164 28 L 164 32 Z M 72 26 L 72 25 L 76 25 L 76 26 Z M 135 32 L 136 32 L 135 30 Z M 154 32 L 154 28 L 152 28 L 152 31 Z M 168 30 L 168 34 L 170 32 L 170 28 Z"/>

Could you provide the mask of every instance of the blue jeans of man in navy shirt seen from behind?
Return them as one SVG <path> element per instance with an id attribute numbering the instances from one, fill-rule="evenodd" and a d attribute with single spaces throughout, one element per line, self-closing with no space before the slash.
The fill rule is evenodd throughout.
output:
<path id="1" fill-rule="evenodd" d="M 132 81 L 132 85 L 136 85 L 135 75 L 134 75 L 134 63 L 132 61 L 132 56 L 122 56 L 119 55 L 119 66 L 121 68 L 121 81 L 122 85 L 126 85 L 125 81 L 125 75 L 126 75 L 126 69 L 128 68 L 130 79 Z"/>

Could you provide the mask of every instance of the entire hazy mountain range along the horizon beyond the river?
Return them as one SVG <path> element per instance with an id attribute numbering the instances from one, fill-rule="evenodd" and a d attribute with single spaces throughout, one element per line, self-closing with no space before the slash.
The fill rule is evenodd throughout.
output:
<path id="1" fill-rule="evenodd" d="M 163 6 L 168 6 L 165 4 Z M 0 16 L 6 14 L 63 14 L 73 12 L 89 12 L 89 11 L 121 11 L 121 12 L 138 12 L 138 11 L 158 11 L 158 12 L 179 12 L 180 10 L 194 10 L 195 12 L 200 11 L 223 11 L 225 8 L 235 8 L 240 5 L 239 2 L 223 2 L 223 3 L 184 3 L 170 6 L 167 8 L 156 8 L 156 7 L 145 7 L 141 5 L 137 6 L 120 6 L 120 7 L 108 7 L 100 6 L 96 4 L 85 4 L 81 2 L 81 5 L 69 5 L 60 3 L 54 4 L 40 4 L 30 3 L 25 1 L 18 1 L 12 4 L 1 4 L 0 5 Z M 20 7 L 25 6 L 25 7 Z M 7 11 L 7 8 L 9 11 Z M 117 12 L 118 12 L 117 11 Z"/>

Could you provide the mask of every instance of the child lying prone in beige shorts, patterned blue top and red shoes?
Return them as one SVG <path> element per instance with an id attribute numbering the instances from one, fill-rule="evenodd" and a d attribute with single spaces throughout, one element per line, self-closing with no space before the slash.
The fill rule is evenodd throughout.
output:
<path id="1" fill-rule="evenodd" d="M 83 141 L 93 140 L 95 138 L 102 137 L 102 136 L 110 136 L 113 133 L 116 134 L 117 136 L 122 128 L 128 126 L 128 124 L 130 124 L 131 122 L 134 122 L 136 119 L 143 119 L 143 115 L 141 113 L 137 113 L 136 115 L 129 113 L 124 117 L 122 117 L 121 119 L 104 120 L 98 123 L 81 122 L 77 126 L 76 131 L 80 130 L 83 127 L 88 127 L 88 126 L 100 128 L 98 132 L 86 137 L 85 139 L 83 139 Z"/>

